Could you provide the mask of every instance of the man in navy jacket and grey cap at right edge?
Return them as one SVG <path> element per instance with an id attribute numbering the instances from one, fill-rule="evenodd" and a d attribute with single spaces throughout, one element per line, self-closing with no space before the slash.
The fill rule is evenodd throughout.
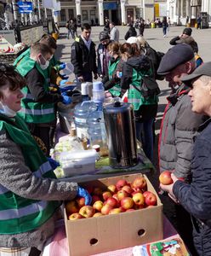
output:
<path id="1" fill-rule="evenodd" d="M 208 115 L 209 119 L 199 127 L 202 131 L 195 138 L 191 157 L 191 184 L 180 181 L 172 174 L 174 183 L 161 188 L 191 214 L 194 245 L 198 255 L 211 252 L 211 62 L 204 63 L 193 73 L 181 79 L 191 86 L 191 110 Z M 195 255 L 197 255 L 195 254 Z"/>

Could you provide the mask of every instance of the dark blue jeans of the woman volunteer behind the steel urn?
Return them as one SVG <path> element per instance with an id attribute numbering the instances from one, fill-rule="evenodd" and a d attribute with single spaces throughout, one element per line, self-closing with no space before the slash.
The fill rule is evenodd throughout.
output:
<path id="1" fill-rule="evenodd" d="M 154 118 L 142 123 L 135 122 L 135 131 L 137 139 L 142 143 L 145 155 L 153 162 L 153 127 Z"/>

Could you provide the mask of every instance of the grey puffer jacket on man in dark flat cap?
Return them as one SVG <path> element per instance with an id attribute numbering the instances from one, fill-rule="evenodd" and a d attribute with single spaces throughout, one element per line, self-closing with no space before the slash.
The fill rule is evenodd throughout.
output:
<path id="1" fill-rule="evenodd" d="M 159 135 L 160 172 L 174 172 L 176 177 L 191 181 L 191 151 L 193 138 L 204 121 L 201 114 L 191 111 L 190 88 L 185 84 L 168 96 L 168 105 L 163 113 Z"/>

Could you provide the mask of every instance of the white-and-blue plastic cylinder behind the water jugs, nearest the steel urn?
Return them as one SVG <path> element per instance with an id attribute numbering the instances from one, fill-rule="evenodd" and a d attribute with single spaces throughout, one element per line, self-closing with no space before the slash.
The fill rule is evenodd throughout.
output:
<path id="1" fill-rule="evenodd" d="M 93 101 L 96 103 L 99 110 L 102 110 L 105 100 L 105 90 L 102 82 L 93 83 Z"/>

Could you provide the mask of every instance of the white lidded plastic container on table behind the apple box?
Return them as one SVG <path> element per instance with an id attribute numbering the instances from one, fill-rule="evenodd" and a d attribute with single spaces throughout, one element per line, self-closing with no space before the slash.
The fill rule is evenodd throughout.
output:
<path id="1" fill-rule="evenodd" d="M 78 150 L 60 154 L 60 165 L 65 177 L 88 174 L 95 170 L 96 151 Z"/>

